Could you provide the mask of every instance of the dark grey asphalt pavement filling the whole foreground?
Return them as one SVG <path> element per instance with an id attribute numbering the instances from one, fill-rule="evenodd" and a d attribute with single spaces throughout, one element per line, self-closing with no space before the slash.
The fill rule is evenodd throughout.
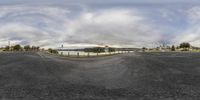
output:
<path id="1" fill-rule="evenodd" d="M 199 100 L 200 53 L 0 53 L 0 100 Z"/>

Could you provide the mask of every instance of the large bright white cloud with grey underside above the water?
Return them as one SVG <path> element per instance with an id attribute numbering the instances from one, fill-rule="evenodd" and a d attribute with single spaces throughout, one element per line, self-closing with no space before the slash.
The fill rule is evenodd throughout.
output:
<path id="1" fill-rule="evenodd" d="M 86 12 L 72 22 L 72 27 L 69 26 L 70 29 L 75 28 L 74 33 L 78 34 L 70 38 L 80 43 L 133 46 L 138 42 L 158 41 L 161 34 L 144 21 L 145 18 L 132 10 L 111 9 Z"/>

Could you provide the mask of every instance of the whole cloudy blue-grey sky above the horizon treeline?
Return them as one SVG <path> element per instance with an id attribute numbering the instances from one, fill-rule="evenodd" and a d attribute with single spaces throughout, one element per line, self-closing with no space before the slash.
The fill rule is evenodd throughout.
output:
<path id="1" fill-rule="evenodd" d="M 190 42 L 200 47 L 198 0 L 1 0 L 0 47 Z"/>

